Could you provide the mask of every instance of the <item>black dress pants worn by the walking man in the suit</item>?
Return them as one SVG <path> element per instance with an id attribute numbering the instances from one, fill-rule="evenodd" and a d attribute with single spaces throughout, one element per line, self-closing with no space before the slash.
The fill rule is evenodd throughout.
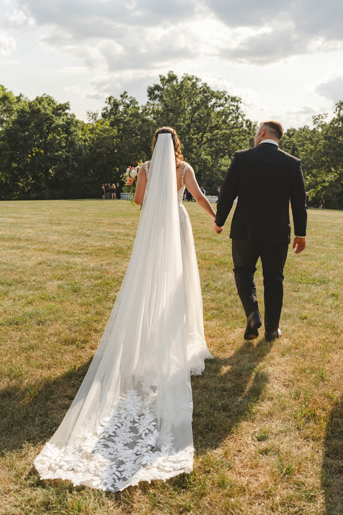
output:
<path id="1" fill-rule="evenodd" d="M 252 239 L 232 239 L 234 280 L 246 316 L 258 310 L 254 274 L 261 258 L 264 286 L 264 329 L 276 331 L 282 310 L 283 267 L 288 243 L 265 242 Z"/>

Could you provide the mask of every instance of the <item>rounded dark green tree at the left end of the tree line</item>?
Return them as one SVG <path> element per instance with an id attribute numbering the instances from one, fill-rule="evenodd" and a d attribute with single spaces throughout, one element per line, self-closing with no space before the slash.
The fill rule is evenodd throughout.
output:
<path id="1" fill-rule="evenodd" d="M 59 104 L 48 95 L 23 102 L 1 134 L 5 197 L 32 198 L 44 188 L 48 199 L 51 182 L 64 182 L 68 189 L 79 133 L 68 102 Z"/>

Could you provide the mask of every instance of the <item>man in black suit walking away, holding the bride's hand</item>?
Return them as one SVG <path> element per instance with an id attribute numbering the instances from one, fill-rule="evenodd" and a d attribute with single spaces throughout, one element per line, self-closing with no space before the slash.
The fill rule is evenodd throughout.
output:
<path id="1" fill-rule="evenodd" d="M 264 337 L 280 338 L 283 267 L 291 242 L 289 202 L 294 233 L 293 248 L 306 247 L 306 194 L 300 160 L 279 148 L 283 127 L 275 120 L 262 122 L 255 147 L 234 153 L 217 204 L 213 229 L 217 234 L 238 195 L 230 238 L 234 280 L 247 317 L 246 340 L 258 337 L 261 315 L 254 273 L 261 258 L 264 286 Z"/>

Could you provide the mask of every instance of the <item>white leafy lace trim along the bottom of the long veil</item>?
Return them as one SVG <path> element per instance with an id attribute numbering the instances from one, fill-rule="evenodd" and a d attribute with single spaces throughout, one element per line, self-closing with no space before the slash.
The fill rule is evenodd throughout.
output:
<path id="1" fill-rule="evenodd" d="M 190 386 L 190 385 L 189 385 Z M 168 479 L 193 468 L 193 448 L 173 452 L 162 445 L 154 414 L 154 387 L 145 401 L 128 390 L 79 448 L 47 443 L 34 465 L 42 479 L 69 479 L 101 490 L 118 491 L 139 481 Z"/>

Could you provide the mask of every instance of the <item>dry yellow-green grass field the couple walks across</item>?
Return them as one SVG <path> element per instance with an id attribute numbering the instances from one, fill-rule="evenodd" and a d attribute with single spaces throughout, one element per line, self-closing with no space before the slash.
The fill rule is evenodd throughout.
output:
<path id="1" fill-rule="evenodd" d="M 285 267 L 284 336 L 251 344 L 229 220 L 216 236 L 200 208 L 185 205 L 215 356 L 192 378 L 194 470 L 110 494 L 41 481 L 32 460 L 94 355 L 139 208 L 0 203 L 0 514 L 343 513 L 343 212 L 309 210 L 308 248 L 290 249 Z M 260 264 L 256 282 L 263 312 Z"/>

